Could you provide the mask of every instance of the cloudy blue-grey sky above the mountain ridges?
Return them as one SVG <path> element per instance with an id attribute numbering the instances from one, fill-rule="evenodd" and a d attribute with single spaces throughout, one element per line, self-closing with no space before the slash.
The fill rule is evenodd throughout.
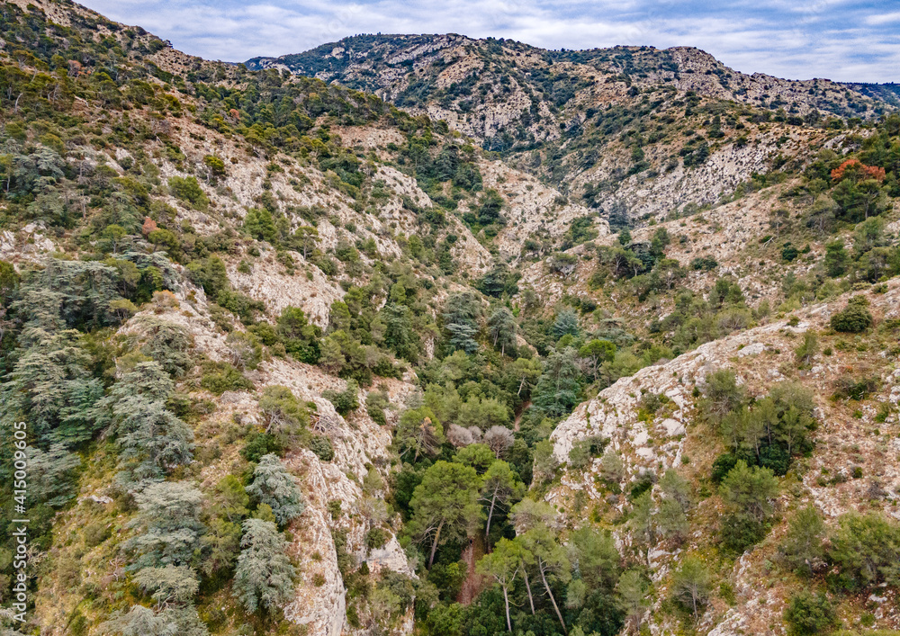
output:
<path id="1" fill-rule="evenodd" d="M 900 82 L 900 0 L 80 0 L 203 58 L 359 33 L 462 33 L 545 49 L 695 46 L 743 73 Z"/>

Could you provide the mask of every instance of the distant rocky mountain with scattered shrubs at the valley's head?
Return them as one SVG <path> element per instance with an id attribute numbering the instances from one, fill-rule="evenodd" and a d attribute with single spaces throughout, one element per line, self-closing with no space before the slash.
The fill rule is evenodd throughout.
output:
<path id="1" fill-rule="evenodd" d="M 821 142 L 814 125 L 836 131 L 837 118 L 896 110 L 889 85 L 748 76 L 686 47 L 549 51 L 362 35 L 247 67 L 315 76 L 446 121 L 614 223 L 714 203 L 754 173 L 802 161 Z"/>

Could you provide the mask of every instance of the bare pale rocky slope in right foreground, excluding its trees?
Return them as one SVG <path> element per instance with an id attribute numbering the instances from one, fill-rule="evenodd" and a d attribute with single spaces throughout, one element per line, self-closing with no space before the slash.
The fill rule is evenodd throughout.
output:
<path id="1" fill-rule="evenodd" d="M 878 320 L 900 317 L 900 286 L 888 285 L 887 291 L 867 296 Z M 833 388 L 847 369 L 865 369 L 878 378 L 880 389 L 876 399 L 896 405 L 900 400 L 900 371 L 896 348 L 887 351 L 840 350 L 833 337 L 824 338 L 822 345 L 828 355 L 818 354 L 808 371 L 798 377 L 794 350 L 807 331 L 823 333 L 829 318 L 845 305 L 845 298 L 832 303 L 812 305 L 797 311 L 796 324 L 774 320 L 763 327 L 748 329 L 734 336 L 699 346 L 665 363 L 647 367 L 635 375 L 617 381 L 598 396 L 581 404 L 568 419 L 558 425 L 551 435 L 554 455 L 566 464 L 569 453 L 579 440 L 601 435 L 610 440 L 609 448 L 624 461 L 625 470 L 616 486 L 626 492 L 644 475 L 662 475 L 677 469 L 689 479 L 702 482 L 711 470 L 716 454 L 722 451 L 715 430 L 703 422 L 698 413 L 698 400 L 706 394 L 709 373 L 721 369 L 733 370 L 739 386 L 751 396 L 761 398 L 773 386 L 788 381 L 799 382 L 815 395 L 815 450 L 803 458 L 802 466 L 792 475 L 791 485 L 785 488 L 776 504 L 779 515 L 788 517 L 807 505 L 814 505 L 825 516 L 829 526 L 838 517 L 851 511 L 866 512 L 873 507 L 890 515 L 900 515 L 897 487 L 900 486 L 900 445 L 890 434 L 896 415 L 876 419 L 874 409 L 852 413 L 846 403 L 829 399 Z M 839 340 L 839 339 L 838 339 Z M 786 376 L 784 373 L 788 373 Z M 641 399 L 648 394 L 662 395 L 666 408 L 653 417 L 640 413 Z M 611 518 L 626 512 L 624 495 L 611 494 L 607 478 L 602 477 L 601 461 L 596 459 L 585 470 L 565 470 L 557 485 L 545 498 L 560 506 L 566 515 Z M 618 490 L 617 490 L 618 491 Z M 659 487 L 651 492 L 659 497 Z M 702 496 L 701 496 L 702 497 Z M 873 498 L 874 497 L 874 498 Z M 684 542 L 657 538 L 644 548 L 651 577 L 658 582 L 660 598 L 672 583 L 672 572 L 679 559 L 695 553 L 708 555 L 712 549 L 709 537 L 722 522 L 723 504 L 719 497 L 702 497 L 691 513 L 697 526 Z M 898 517 L 900 518 L 900 517 Z M 698 620 L 698 631 L 709 634 L 743 632 L 762 633 L 778 623 L 790 596 L 790 582 L 772 581 L 770 568 L 779 559 L 779 541 L 787 524 L 777 523 L 769 537 L 752 551 L 744 553 L 721 572 L 725 585 L 734 589 L 729 604 L 709 605 Z M 631 529 L 614 531 L 617 542 L 632 545 L 638 542 Z M 896 624 L 898 615 L 887 597 L 869 599 L 878 619 Z M 864 599 L 863 605 L 866 605 Z M 653 605 L 647 621 L 653 633 L 671 633 L 676 626 L 671 616 Z M 861 608 L 858 611 L 862 611 Z"/>

